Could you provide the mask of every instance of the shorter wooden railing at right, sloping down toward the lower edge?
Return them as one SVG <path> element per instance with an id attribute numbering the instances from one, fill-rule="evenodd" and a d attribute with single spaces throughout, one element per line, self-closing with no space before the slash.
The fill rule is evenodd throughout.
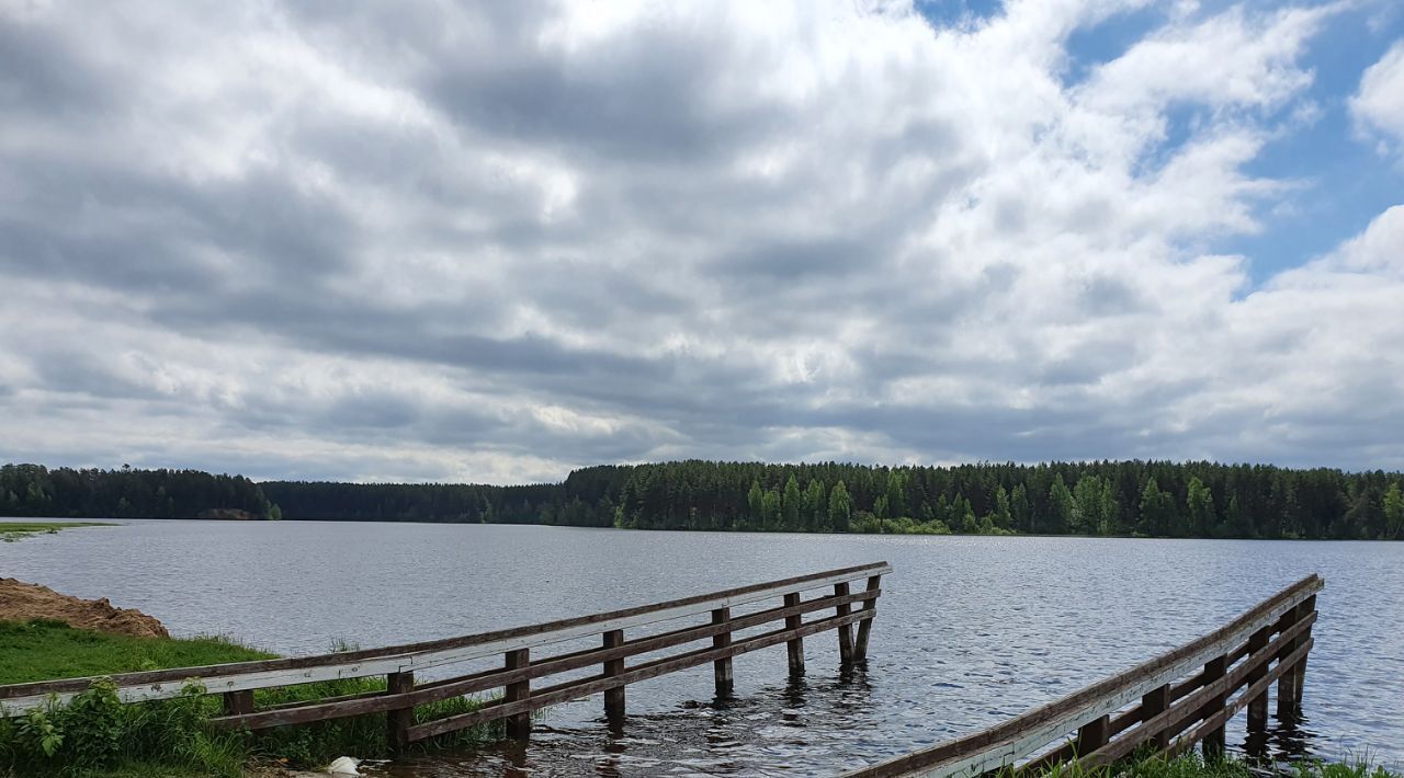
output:
<path id="1" fill-rule="evenodd" d="M 1139 750 L 1174 756 L 1196 743 L 1223 750 L 1224 723 L 1244 708 L 1250 732 L 1266 728 L 1273 683 L 1279 715 L 1300 708 L 1323 585 L 1316 575 L 1304 578 L 1231 624 L 1126 673 L 983 732 L 848 775 L 1029 772 L 1074 760 L 1099 767 Z"/>

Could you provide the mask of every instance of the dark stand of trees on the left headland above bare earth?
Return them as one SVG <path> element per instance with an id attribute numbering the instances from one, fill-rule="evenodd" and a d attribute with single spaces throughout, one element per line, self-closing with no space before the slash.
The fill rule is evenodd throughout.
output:
<path id="1" fill-rule="evenodd" d="M 277 519 L 277 506 L 241 475 L 198 470 L 0 467 L 0 516 L 56 519 Z"/>

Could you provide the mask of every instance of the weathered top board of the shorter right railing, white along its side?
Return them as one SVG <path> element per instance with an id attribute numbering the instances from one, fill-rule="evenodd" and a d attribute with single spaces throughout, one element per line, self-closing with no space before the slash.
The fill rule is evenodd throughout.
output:
<path id="1" fill-rule="evenodd" d="M 1125 673 L 993 728 L 854 770 L 845 775 L 854 778 L 969 775 L 1014 764 L 1077 726 L 1115 714 L 1146 692 L 1189 674 L 1210 659 L 1227 655 L 1252 632 L 1273 625 L 1283 613 L 1297 607 L 1324 585 L 1320 576 L 1310 575 L 1264 600 L 1233 622 Z"/>

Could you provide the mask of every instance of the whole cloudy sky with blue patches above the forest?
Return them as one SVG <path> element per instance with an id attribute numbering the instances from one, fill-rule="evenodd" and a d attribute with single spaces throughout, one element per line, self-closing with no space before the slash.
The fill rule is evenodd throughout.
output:
<path id="1" fill-rule="evenodd" d="M 0 461 L 1404 468 L 1397 0 L 0 0 Z"/>

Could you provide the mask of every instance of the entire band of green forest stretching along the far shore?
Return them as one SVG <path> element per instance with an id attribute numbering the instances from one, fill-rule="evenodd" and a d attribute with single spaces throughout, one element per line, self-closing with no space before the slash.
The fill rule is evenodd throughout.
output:
<path id="1" fill-rule="evenodd" d="M 560 484 L 338 484 L 0 468 L 0 514 L 566 524 L 647 530 L 1404 540 L 1404 475 L 1213 463 L 869 467 L 681 461 Z"/>

